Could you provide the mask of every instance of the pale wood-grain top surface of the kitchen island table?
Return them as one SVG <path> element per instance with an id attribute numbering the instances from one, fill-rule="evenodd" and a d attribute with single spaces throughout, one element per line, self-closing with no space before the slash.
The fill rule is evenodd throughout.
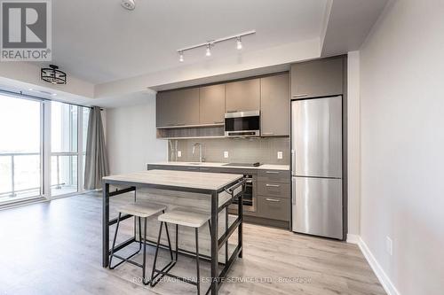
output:
<path id="1" fill-rule="evenodd" d="M 169 185 L 181 188 L 219 190 L 243 175 L 176 170 L 148 170 L 124 175 L 110 175 L 103 180 L 140 184 Z"/>

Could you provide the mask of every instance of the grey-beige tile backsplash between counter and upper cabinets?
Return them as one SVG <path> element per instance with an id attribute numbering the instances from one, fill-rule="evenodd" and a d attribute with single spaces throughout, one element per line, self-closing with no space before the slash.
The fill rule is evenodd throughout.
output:
<path id="1" fill-rule="evenodd" d="M 194 162 L 199 160 L 199 151 L 193 155 L 193 145 L 202 144 L 206 162 L 289 164 L 289 137 L 264 138 L 195 138 L 169 140 L 169 160 Z M 224 153 L 228 151 L 228 158 Z M 282 159 L 278 159 L 282 151 Z M 181 154 L 181 157 L 177 157 Z"/>

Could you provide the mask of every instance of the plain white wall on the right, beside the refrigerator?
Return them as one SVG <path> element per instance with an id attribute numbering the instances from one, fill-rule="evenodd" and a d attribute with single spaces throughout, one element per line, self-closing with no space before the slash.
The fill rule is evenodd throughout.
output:
<path id="1" fill-rule="evenodd" d="M 406 295 L 444 290 L 443 32 L 444 1 L 392 1 L 361 48 L 361 239 Z"/>

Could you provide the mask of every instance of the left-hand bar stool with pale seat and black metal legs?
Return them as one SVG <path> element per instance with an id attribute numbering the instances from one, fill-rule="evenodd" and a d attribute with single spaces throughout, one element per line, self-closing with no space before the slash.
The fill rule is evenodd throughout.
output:
<path id="1" fill-rule="evenodd" d="M 145 276 L 146 274 L 146 266 L 147 266 L 147 261 L 146 261 L 146 257 L 147 257 L 147 247 L 146 247 L 146 241 L 147 241 L 147 220 L 148 218 L 158 214 L 158 213 L 165 213 L 165 209 L 167 207 L 163 206 L 163 205 L 159 205 L 159 204 L 154 204 L 154 203 L 150 203 L 150 202 L 144 202 L 144 201 L 138 201 L 135 203 L 131 203 L 125 206 L 121 206 L 118 208 L 118 213 L 119 216 L 117 218 L 117 225 L 115 228 L 115 236 L 114 236 L 114 240 L 113 240 L 113 246 L 111 248 L 111 252 L 109 255 L 109 268 L 110 269 L 114 269 L 116 267 L 118 267 L 119 265 L 121 265 L 123 262 L 129 262 L 139 268 L 142 268 L 142 283 L 144 284 L 148 284 L 150 283 L 150 281 L 147 281 L 147 277 Z M 115 240 L 117 238 L 117 232 L 119 230 L 119 224 L 121 221 L 121 217 L 122 217 L 122 213 L 128 214 L 128 215 L 132 215 L 134 216 L 135 219 L 139 219 L 139 250 L 137 252 L 132 253 L 130 256 L 124 258 L 120 255 L 115 254 Z M 142 227 L 141 227 L 141 219 L 144 219 L 144 236 L 143 236 L 143 240 L 142 240 Z M 168 233 L 168 227 L 165 226 L 165 230 L 166 230 L 166 234 L 168 237 L 168 245 L 170 246 L 170 257 L 171 260 L 173 259 L 172 256 L 172 249 L 171 249 L 171 243 L 170 243 L 170 234 Z M 135 237 L 134 237 L 135 238 Z M 137 241 L 136 241 L 137 242 Z M 132 257 L 134 257 L 135 255 L 137 255 L 140 250 L 142 249 L 142 244 L 143 244 L 143 263 L 139 264 L 138 262 L 131 260 Z M 122 250 L 122 249 L 118 249 L 117 251 Z M 122 261 L 120 261 L 119 263 L 117 263 L 115 266 L 112 266 L 111 262 L 113 260 L 113 257 L 118 258 Z"/>

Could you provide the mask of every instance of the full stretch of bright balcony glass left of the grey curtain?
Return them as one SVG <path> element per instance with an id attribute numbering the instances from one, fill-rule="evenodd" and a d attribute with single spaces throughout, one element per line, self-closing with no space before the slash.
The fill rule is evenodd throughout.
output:
<path id="1" fill-rule="evenodd" d="M 83 192 L 89 113 L 0 94 L 0 206 Z"/>

